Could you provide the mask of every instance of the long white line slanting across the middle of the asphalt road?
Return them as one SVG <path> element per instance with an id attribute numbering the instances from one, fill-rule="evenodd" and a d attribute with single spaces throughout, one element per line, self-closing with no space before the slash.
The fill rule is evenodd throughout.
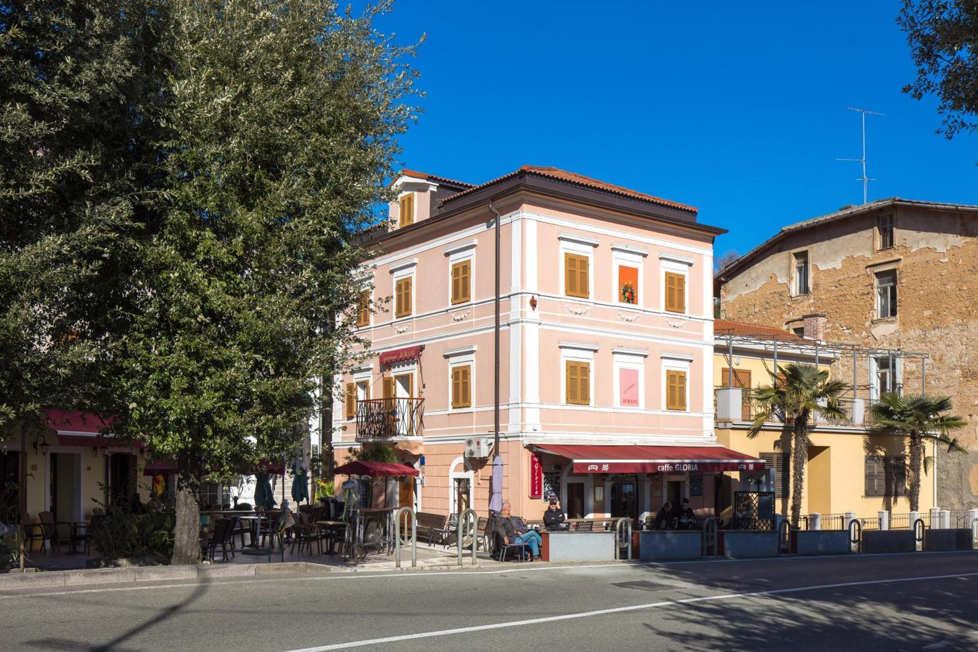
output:
<path id="1" fill-rule="evenodd" d="M 951 580 L 956 578 L 970 578 L 978 576 L 978 573 L 962 573 L 957 575 L 932 575 L 923 578 L 895 578 L 892 580 L 868 580 L 866 582 L 840 582 L 835 584 L 817 584 L 814 586 L 793 586 L 790 588 L 772 588 L 764 591 L 752 591 L 750 593 L 726 593 L 724 595 L 704 595 L 700 597 L 683 598 L 680 600 L 664 600 L 662 602 L 649 602 L 647 604 L 636 604 L 628 607 L 614 607 L 610 609 L 599 609 L 596 611 L 584 611 L 575 614 L 562 614 L 560 616 L 547 616 L 545 618 L 531 618 L 523 621 L 510 621 L 507 623 L 493 623 L 491 625 L 476 625 L 467 628 L 437 629 L 435 631 L 422 631 L 413 634 L 402 634 L 400 636 L 386 636 L 384 638 L 369 638 L 366 640 L 354 640 L 346 643 L 333 643 L 330 645 L 320 645 L 317 647 L 304 647 L 288 652 L 329 652 L 329 650 L 340 650 L 348 647 L 362 647 L 365 645 L 378 645 L 380 643 L 394 643 L 402 640 L 412 640 L 416 638 L 433 638 L 435 636 L 449 636 L 458 633 L 469 633 L 472 631 L 485 631 L 487 629 L 503 629 L 519 627 L 522 625 L 539 625 L 540 623 L 555 623 L 557 621 L 568 621 L 579 618 L 589 618 L 592 616 L 605 616 L 607 614 L 620 614 L 629 611 L 641 611 L 654 609 L 656 607 L 668 607 L 671 605 L 691 604 L 693 602 L 710 602 L 715 600 L 733 600 L 736 598 L 762 597 L 765 595 L 778 595 L 783 593 L 798 593 L 801 591 L 813 591 L 825 588 L 847 588 L 850 586 L 867 586 L 870 584 L 886 584 L 892 582 L 925 582 L 928 580 Z"/>

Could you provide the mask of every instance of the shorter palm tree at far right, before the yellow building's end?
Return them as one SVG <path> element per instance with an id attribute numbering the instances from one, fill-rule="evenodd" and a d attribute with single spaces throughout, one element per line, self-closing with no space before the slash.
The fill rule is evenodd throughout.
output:
<path id="1" fill-rule="evenodd" d="M 948 452 L 966 452 L 951 434 L 967 425 L 951 411 L 949 396 L 900 396 L 888 392 L 869 405 L 869 432 L 875 435 L 901 435 L 910 440 L 911 512 L 920 507 L 920 470 L 924 465 L 925 442 L 948 446 Z"/>

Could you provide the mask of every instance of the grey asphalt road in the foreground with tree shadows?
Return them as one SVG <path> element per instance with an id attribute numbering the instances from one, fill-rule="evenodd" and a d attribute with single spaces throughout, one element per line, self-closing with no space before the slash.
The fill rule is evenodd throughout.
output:
<path id="1" fill-rule="evenodd" d="M 0 650 L 978 650 L 978 552 L 0 591 Z"/>

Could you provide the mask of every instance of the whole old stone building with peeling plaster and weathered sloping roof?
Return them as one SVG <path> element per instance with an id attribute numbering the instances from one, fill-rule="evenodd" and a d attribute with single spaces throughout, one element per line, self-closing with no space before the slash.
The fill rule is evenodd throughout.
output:
<path id="1" fill-rule="evenodd" d="M 857 364 L 856 395 L 951 396 L 969 452 L 939 450 L 924 482 L 942 508 L 978 506 L 978 206 L 891 198 L 785 226 L 721 269 L 714 293 L 726 319 L 801 334 L 824 315 L 826 340 L 926 351 Z M 851 383 L 852 363 L 836 364 Z"/>

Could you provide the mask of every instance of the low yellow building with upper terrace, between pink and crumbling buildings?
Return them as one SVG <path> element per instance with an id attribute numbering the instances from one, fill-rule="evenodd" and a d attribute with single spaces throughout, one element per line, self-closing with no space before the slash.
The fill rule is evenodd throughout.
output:
<path id="1" fill-rule="evenodd" d="M 756 437 L 747 433 L 756 414 L 752 390 L 771 384 L 770 372 L 791 362 L 818 364 L 833 378 L 850 380 L 852 368 L 870 368 L 868 386 L 857 386 L 841 399 L 847 418 L 825 423 L 816 419 L 810 433 L 808 465 L 801 513 L 840 515 L 855 512 L 857 518 L 875 518 L 888 510 L 894 516 L 908 514 L 906 469 L 909 464 L 905 438 L 869 435 L 866 428 L 869 404 L 881 392 L 901 391 L 897 371 L 904 357 L 922 357 L 899 349 L 864 349 L 823 342 L 818 336 L 824 315 L 809 315 L 806 333 L 764 328 L 753 324 L 716 320 L 714 324 L 714 377 L 717 442 L 747 455 L 764 458 L 774 467 L 774 477 L 727 474 L 720 498 L 721 515 L 730 518 L 736 490 L 774 490 L 776 511 L 790 512 L 791 479 L 788 472 L 789 428 L 778 418 L 766 423 Z M 806 337 L 806 335 L 808 337 Z M 864 376 L 865 377 L 865 376 Z M 928 450 L 927 455 L 933 455 Z M 923 477 L 920 512 L 934 506 L 936 468 Z M 773 485 L 769 487 L 768 484 Z M 903 525 L 899 516 L 892 522 Z M 904 525 L 904 527 L 907 527 Z"/>

